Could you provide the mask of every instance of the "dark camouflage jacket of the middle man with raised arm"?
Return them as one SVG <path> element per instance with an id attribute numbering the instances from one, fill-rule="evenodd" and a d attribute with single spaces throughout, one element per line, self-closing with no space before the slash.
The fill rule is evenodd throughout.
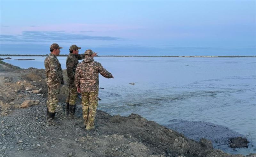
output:
<path id="1" fill-rule="evenodd" d="M 84 54 L 72 54 L 69 53 L 67 60 L 66 60 L 66 66 L 67 66 L 67 82 L 69 84 L 74 83 L 75 81 L 75 73 L 76 73 L 76 67 L 79 63 L 78 60 L 84 59 Z"/>

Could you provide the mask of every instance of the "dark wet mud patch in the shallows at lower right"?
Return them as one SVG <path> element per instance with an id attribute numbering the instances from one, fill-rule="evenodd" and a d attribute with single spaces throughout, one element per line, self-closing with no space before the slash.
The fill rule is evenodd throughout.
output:
<path id="1" fill-rule="evenodd" d="M 203 121 L 188 121 L 181 119 L 173 119 L 169 121 L 168 128 L 184 134 L 189 139 L 200 141 L 201 138 L 208 139 L 212 142 L 214 149 L 232 150 L 230 148 L 230 138 L 243 137 L 244 135 L 230 130 L 228 127 L 216 125 Z M 241 142 L 243 140 L 241 139 Z M 243 142 L 246 143 L 246 142 Z M 252 144 L 249 143 L 249 148 L 254 149 Z M 244 145 L 245 147 L 245 145 Z M 236 151 L 233 149 L 233 151 Z M 256 150 L 255 150 L 256 151 Z"/>

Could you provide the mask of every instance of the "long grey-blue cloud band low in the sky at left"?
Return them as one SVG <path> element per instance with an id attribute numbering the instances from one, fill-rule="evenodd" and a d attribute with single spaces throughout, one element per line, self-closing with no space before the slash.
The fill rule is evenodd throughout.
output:
<path id="1" fill-rule="evenodd" d="M 10 42 L 49 42 L 49 41 L 76 41 L 76 40 L 119 40 L 122 38 L 110 36 L 89 36 L 72 34 L 64 31 L 23 31 L 21 35 L 1 35 L 0 41 Z"/>

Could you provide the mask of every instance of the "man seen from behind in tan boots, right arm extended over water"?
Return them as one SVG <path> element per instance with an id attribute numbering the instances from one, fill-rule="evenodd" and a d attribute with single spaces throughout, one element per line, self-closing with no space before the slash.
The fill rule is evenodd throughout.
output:
<path id="1" fill-rule="evenodd" d="M 106 78 L 114 78 L 102 65 L 93 60 L 93 51 L 85 51 L 84 61 L 76 68 L 75 86 L 82 93 L 82 109 L 86 130 L 94 129 L 94 118 L 98 106 L 99 73 Z"/>

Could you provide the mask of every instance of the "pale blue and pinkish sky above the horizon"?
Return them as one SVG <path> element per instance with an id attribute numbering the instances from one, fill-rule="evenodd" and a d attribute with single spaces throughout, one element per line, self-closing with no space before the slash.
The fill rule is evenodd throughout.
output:
<path id="1" fill-rule="evenodd" d="M 256 55 L 256 1 L 0 0 L 0 54 Z"/>

